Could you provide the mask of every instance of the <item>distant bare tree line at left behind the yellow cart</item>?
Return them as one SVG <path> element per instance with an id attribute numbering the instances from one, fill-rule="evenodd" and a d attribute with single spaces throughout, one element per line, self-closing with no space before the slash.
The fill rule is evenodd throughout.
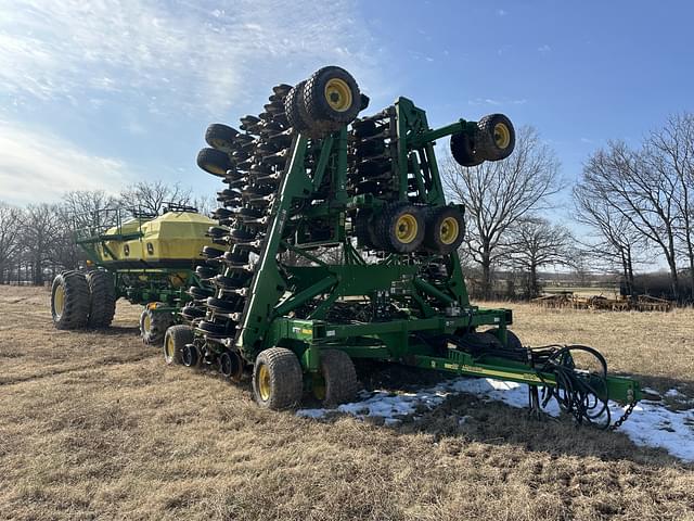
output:
<path id="1" fill-rule="evenodd" d="M 213 202 L 194 196 L 191 189 L 162 181 L 138 182 L 118 195 L 104 191 L 70 191 L 56 203 L 17 207 L 0 201 L 0 283 L 43 284 L 60 270 L 75 269 L 83 262 L 75 244 L 75 232 L 100 224 L 115 224 L 113 208 L 159 215 L 168 203 L 195 206 L 203 213 Z"/>

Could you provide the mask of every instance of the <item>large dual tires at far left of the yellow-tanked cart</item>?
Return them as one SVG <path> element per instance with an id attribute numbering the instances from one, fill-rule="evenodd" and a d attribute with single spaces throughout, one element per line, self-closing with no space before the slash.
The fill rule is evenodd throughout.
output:
<path id="1" fill-rule="evenodd" d="M 116 312 L 116 290 L 107 271 L 63 271 L 51 288 L 56 329 L 107 328 Z"/>

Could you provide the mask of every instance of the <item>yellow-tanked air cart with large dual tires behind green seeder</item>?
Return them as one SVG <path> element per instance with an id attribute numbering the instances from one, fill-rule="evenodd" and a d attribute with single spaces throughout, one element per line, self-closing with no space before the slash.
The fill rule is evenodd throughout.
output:
<path id="1" fill-rule="evenodd" d="M 163 215 L 141 209 L 105 208 L 74 216 L 75 242 L 88 270 L 60 274 L 53 281 L 51 312 L 59 329 L 106 328 L 116 301 L 144 306 L 140 332 L 146 344 L 160 344 L 179 312 L 203 291 L 196 268 L 213 242 L 216 224 L 190 206 L 168 203 Z"/>

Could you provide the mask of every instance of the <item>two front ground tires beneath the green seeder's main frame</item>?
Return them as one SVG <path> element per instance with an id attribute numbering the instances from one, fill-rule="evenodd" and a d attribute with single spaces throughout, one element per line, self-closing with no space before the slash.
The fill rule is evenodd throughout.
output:
<path id="1" fill-rule="evenodd" d="M 357 373 L 347 354 L 338 350 L 321 352 L 320 374 L 312 378 L 312 391 L 325 405 L 351 399 L 357 393 Z M 253 394 L 260 407 L 273 410 L 295 407 L 304 393 L 301 365 L 284 347 L 261 352 L 253 368 Z"/>

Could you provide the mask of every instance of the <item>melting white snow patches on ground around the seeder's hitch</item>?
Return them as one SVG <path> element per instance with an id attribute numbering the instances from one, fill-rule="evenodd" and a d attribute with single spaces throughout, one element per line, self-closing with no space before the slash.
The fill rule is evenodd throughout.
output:
<path id="1" fill-rule="evenodd" d="M 652 392 L 651 390 L 644 390 Z M 356 418 L 382 417 L 386 425 L 395 425 L 404 416 L 413 415 L 417 409 L 433 409 L 447 396 L 470 393 L 486 401 L 503 402 L 511 407 L 528 406 L 528 387 L 525 384 L 503 382 L 490 378 L 458 378 L 433 387 L 400 394 L 375 391 L 363 392 L 363 399 L 343 404 L 333 409 L 299 409 L 296 414 L 306 418 L 324 418 L 331 412 L 344 412 Z M 670 397 L 684 397 L 677 390 L 665 393 Z M 552 399 L 543 409 L 551 416 L 560 415 L 556 401 Z M 621 417 L 625 407 L 609 402 L 613 422 Z M 462 424 L 468 417 L 459 419 Z M 694 408 L 672 411 L 658 402 L 642 401 L 633 409 L 629 419 L 619 429 L 637 445 L 665 448 L 672 456 L 685 461 L 694 461 Z"/>

